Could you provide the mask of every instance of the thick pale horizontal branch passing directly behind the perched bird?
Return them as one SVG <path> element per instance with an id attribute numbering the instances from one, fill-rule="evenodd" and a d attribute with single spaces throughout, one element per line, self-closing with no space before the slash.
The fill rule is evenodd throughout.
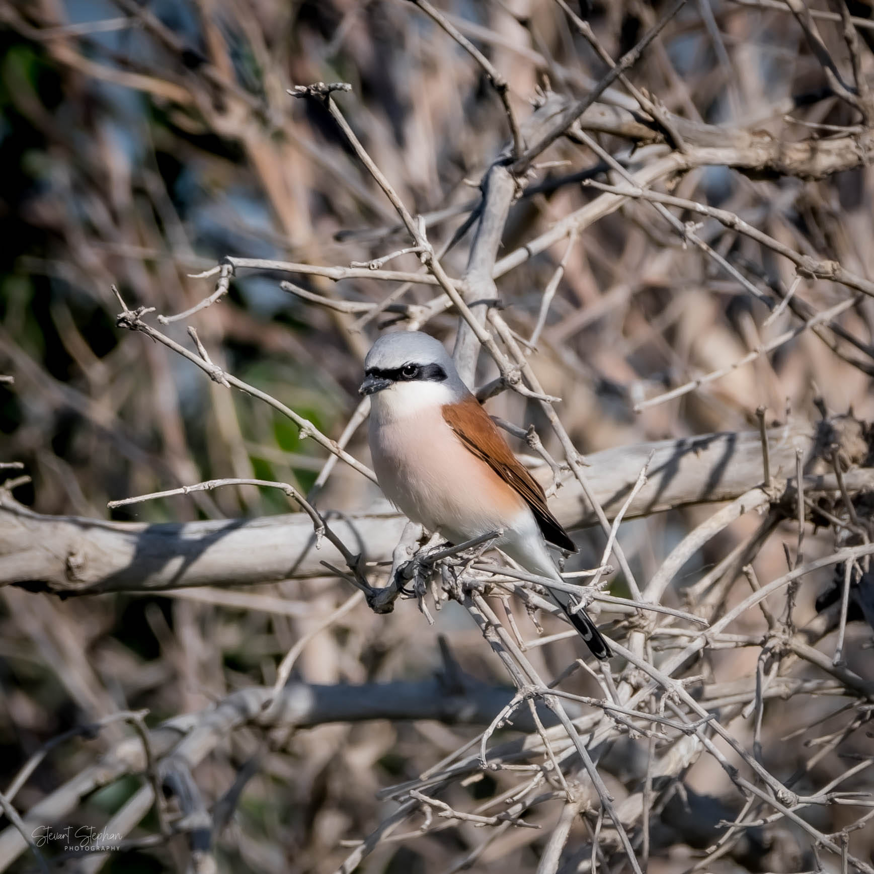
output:
<path id="1" fill-rule="evenodd" d="M 793 474 L 796 448 L 808 464 L 817 430 L 798 423 L 770 432 L 771 465 L 778 479 Z M 627 518 L 684 504 L 731 501 L 762 479 L 756 433 L 704 434 L 607 449 L 590 456 L 588 482 L 609 516 L 634 488 L 650 453 L 649 481 Z M 805 492 L 816 488 L 815 477 L 808 477 Z M 574 480 L 558 490 L 551 506 L 569 528 L 598 523 Z M 405 524 L 387 505 L 326 518 L 350 551 L 363 552 L 366 561 L 391 561 Z M 0 585 L 65 594 L 248 586 L 323 576 L 329 573 L 323 561 L 343 565 L 332 545 L 316 549 L 312 521 L 303 513 L 186 524 L 118 523 L 40 516 L 0 494 Z"/>

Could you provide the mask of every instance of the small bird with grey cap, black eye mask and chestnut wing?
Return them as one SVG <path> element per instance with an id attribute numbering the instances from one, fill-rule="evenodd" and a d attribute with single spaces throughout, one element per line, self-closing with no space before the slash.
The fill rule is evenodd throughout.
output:
<path id="1" fill-rule="evenodd" d="M 371 398 L 368 441 L 379 486 L 406 517 L 454 545 L 500 531 L 498 549 L 526 571 L 564 582 L 547 541 L 577 547 L 443 343 L 422 331 L 378 337 L 358 391 Z M 569 593 L 549 592 L 593 655 L 609 658 L 586 611 L 572 610 Z"/>

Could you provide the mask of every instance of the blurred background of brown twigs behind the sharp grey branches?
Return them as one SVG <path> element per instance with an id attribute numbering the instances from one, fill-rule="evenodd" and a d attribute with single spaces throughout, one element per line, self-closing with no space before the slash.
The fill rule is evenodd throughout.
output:
<path id="1" fill-rule="evenodd" d="M 605 72 L 554 0 L 439 5 L 506 77 L 521 118 L 531 112 L 538 89 L 583 94 Z M 571 3 L 614 59 L 668 5 Z M 852 80 L 841 3 L 815 0 L 810 6 L 824 13 L 816 19 L 823 39 Z M 861 70 L 870 78 L 874 7 L 867 0 L 846 7 L 857 17 Z M 760 130 L 786 142 L 852 135 L 863 123 L 830 94 L 822 65 L 781 2 L 690 0 L 629 77 L 691 121 Z M 31 477 L 15 489 L 18 501 L 42 514 L 162 522 L 296 508 L 281 492 L 255 487 L 112 512 L 106 504 L 228 476 L 312 489 L 327 454 L 260 401 L 229 392 L 163 346 L 117 329 L 120 307 L 110 287 L 117 285 L 130 307 L 170 316 L 212 293 L 215 277 L 196 274 L 226 255 L 348 266 L 408 245 L 391 205 L 336 123 L 316 101 L 286 94 L 295 84 L 319 80 L 351 84 L 350 94 L 336 97 L 338 105 L 410 210 L 427 215 L 434 246 L 446 244 L 468 218 L 482 174 L 505 146 L 507 124 L 482 69 L 413 3 L 0 0 L 0 372 L 15 378 L 14 385 L 0 384 L 0 454 L 3 461 L 23 462 Z M 603 100 L 636 107 L 621 90 L 611 89 Z M 628 140 L 599 137 L 623 160 L 634 156 Z M 598 191 L 567 177 L 599 163 L 572 142 L 553 145 L 512 207 L 499 258 L 596 198 Z M 593 175 L 618 180 L 599 172 Z M 730 209 L 802 254 L 839 261 L 871 278 L 872 186 L 870 166 L 812 181 L 711 166 L 676 177 L 671 190 Z M 710 219 L 681 217 L 700 222 L 698 233 L 710 246 L 778 297 L 792 288 L 813 312 L 847 295 L 826 281 L 794 283 L 792 265 L 765 247 Z M 449 274 L 463 272 L 468 245 L 469 235 L 443 259 Z M 580 452 L 754 430 L 759 406 L 766 406 L 769 423 L 816 421 L 817 399 L 829 413 L 851 409 L 861 420 L 874 417 L 871 370 L 853 363 L 864 358 L 862 349 L 871 365 L 871 299 L 839 317 L 856 343 L 829 334 L 829 345 L 804 331 L 699 391 L 635 414 L 635 403 L 728 367 L 796 327 L 797 314 L 787 308 L 766 323 L 768 310 L 738 281 L 687 246 L 651 206 L 628 201 L 572 245 L 560 240 L 498 281 L 504 317 L 520 335 L 531 336 L 544 289 L 563 259 L 564 274 L 531 360 L 545 391 L 563 399 L 561 419 Z M 413 254 L 389 266 L 420 265 Z M 354 302 L 378 302 L 397 288 L 367 278 L 293 278 L 319 295 Z M 433 287 L 415 285 L 404 299 L 426 303 L 433 297 Z M 359 318 L 289 295 L 275 273 L 247 270 L 232 278 L 220 302 L 164 330 L 190 345 L 185 325 L 196 325 L 215 362 L 337 438 L 358 405 L 364 353 L 394 317 L 384 313 L 364 324 Z M 427 330 L 451 344 L 456 321 L 445 313 Z M 478 385 L 496 376 L 481 359 Z M 537 425 L 547 447 L 560 455 L 542 413 L 520 396 L 505 392 L 489 402 L 489 412 Z M 364 430 L 354 434 L 349 451 L 369 463 Z M 343 511 L 370 506 L 378 497 L 370 482 L 341 463 L 315 500 L 321 509 Z M 624 525 L 621 543 L 635 573 L 649 579 L 710 513 L 675 510 Z M 747 517 L 732 524 L 686 565 L 678 586 L 694 582 L 758 524 Z M 785 572 L 781 540 L 794 542 L 795 534 L 784 528 L 756 559 L 763 581 Z M 828 528 L 819 538 L 809 532 L 808 554 L 831 548 Z M 600 534 L 580 534 L 579 542 L 578 566 L 596 564 Z M 830 575 L 826 569 L 808 578 L 798 595 L 799 624 L 814 615 L 816 594 Z M 743 578 L 738 585 L 739 600 L 748 588 Z M 613 591 L 625 591 L 621 579 Z M 149 725 L 156 725 L 229 691 L 273 683 L 281 656 L 350 593 L 342 580 L 327 576 L 256 586 L 235 593 L 232 603 L 198 590 L 58 600 L 4 588 L 0 787 L 45 741 L 75 725 L 122 708 L 148 708 Z M 278 596 L 287 607 L 246 600 L 260 595 Z M 680 602 L 678 593 L 671 598 Z M 466 672 L 508 685 L 474 625 L 452 607 L 432 628 L 411 603 L 399 603 L 387 616 L 359 605 L 313 637 L 295 664 L 295 677 L 364 683 L 430 676 L 440 667 L 437 634 L 443 633 Z M 760 620 L 751 616 L 748 628 L 758 628 Z M 520 621 L 527 623 L 526 634 L 535 635 L 524 615 Z M 547 632 L 561 628 L 550 617 L 544 623 Z M 853 624 L 849 635 L 857 649 L 851 662 L 864 671 L 855 662 L 870 661 L 870 652 L 861 649 L 870 629 Z M 554 675 L 575 655 L 575 645 L 565 640 L 531 657 Z M 757 649 L 732 651 L 708 669 L 752 676 L 758 655 Z M 579 680 L 579 690 L 596 688 Z M 775 773 L 792 773 L 809 753 L 803 738 L 778 742 L 787 722 L 812 724 L 836 708 L 822 698 L 781 706 L 777 714 L 766 712 L 768 761 Z M 824 725 L 822 732 L 829 725 L 834 730 Z M 21 789 L 18 808 L 58 787 L 123 731 L 115 725 L 96 738 L 68 742 Z M 374 801 L 379 787 L 420 773 L 473 736 L 473 729 L 431 722 L 295 732 L 271 746 L 217 836 L 219 869 L 334 871 L 349 852 L 342 842 L 368 834 L 390 812 Z M 211 803 L 261 743 L 255 729 L 236 732 L 198 769 L 198 784 Z M 870 743 L 863 731 L 848 736 L 843 752 L 870 755 Z M 811 786 L 840 773 L 842 762 L 836 754 L 823 757 Z M 506 780 L 489 776 L 458 792 L 475 801 L 503 791 Z M 864 774 L 859 780 L 853 785 L 871 787 Z M 707 757 L 687 782 L 710 794 L 731 794 L 725 774 Z M 129 778 L 93 794 L 80 821 L 105 821 L 138 785 Z M 475 870 L 537 870 L 557 810 L 544 805 L 533 816 L 545 831 L 499 836 Z M 840 828 L 840 815 L 840 808 L 829 808 L 818 827 Z M 143 822 L 142 834 L 154 829 L 154 822 Z M 480 840 L 481 830 L 461 823 L 383 843 L 361 870 L 452 871 L 454 860 Z M 586 842 L 584 829 L 575 841 Z M 872 846 L 871 829 L 854 832 L 857 855 L 870 858 Z M 175 870 L 180 852 L 130 850 L 108 857 L 105 870 Z M 694 862 L 691 853 L 668 840 L 649 870 L 685 871 Z M 778 860 L 782 867 L 759 870 L 804 870 L 793 865 L 810 863 L 806 853 L 803 842 L 793 844 Z M 718 864 L 722 871 L 740 863 Z M 776 863 L 769 858 L 768 864 Z M 17 865 L 29 871 L 34 863 L 22 857 Z M 573 860 L 568 865 L 567 871 L 586 870 Z"/>

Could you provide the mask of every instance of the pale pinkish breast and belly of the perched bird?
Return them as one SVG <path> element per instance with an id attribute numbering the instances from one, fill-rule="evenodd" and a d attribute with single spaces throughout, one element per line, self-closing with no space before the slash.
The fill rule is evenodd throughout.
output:
<path id="1" fill-rule="evenodd" d="M 514 489 L 471 454 L 439 407 L 403 419 L 371 419 L 373 467 L 385 496 L 407 517 L 454 543 L 505 528 L 530 512 Z"/>

